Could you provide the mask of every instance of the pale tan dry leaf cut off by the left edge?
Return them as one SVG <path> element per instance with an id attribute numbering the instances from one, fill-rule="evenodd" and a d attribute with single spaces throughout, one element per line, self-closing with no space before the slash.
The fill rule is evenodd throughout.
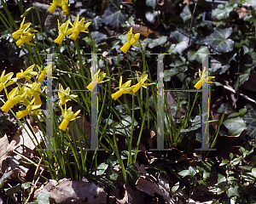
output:
<path id="1" fill-rule="evenodd" d="M 0 171 L 3 173 L 2 162 L 8 158 L 12 151 L 20 145 L 20 136 L 15 135 L 14 139 L 9 143 L 7 135 L 4 134 L 3 138 L 0 139 Z"/>

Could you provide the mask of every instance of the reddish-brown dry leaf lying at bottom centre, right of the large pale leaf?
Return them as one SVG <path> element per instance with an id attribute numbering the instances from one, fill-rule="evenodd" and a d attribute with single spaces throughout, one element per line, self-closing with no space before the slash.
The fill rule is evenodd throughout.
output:
<path id="1" fill-rule="evenodd" d="M 151 196 L 154 196 L 154 192 L 164 196 L 162 190 L 160 190 L 160 187 L 157 184 L 154 184 L 141 177 L 137 179 L 136 188 L 137 190 L 142 190 L 144 193 Z"/>

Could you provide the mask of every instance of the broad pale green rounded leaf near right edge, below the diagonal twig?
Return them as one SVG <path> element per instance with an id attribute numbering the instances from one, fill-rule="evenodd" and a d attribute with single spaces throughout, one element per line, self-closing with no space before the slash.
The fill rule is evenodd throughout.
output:
<path id="1" fill-rule="evenodd" d="M 230 118 L 223 122 L 224 126 L 228 128 L 230 136 L 236 136 L 241 133 L 247 126 L 241 117 Z"/>

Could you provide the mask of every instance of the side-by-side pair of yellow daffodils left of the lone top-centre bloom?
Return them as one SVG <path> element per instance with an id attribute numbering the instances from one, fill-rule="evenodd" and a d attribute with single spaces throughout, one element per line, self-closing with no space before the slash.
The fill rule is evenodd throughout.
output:
<path id="1" fill-rule="evenodd" d="M 55 39 L 55 42 L 58 44 L 61 44 L 61 42 L 63 41 L 65 36 L 70 35 L 70 38 L 73 40 L 76 40 L 77 37 L 79 36 L 79 32 L 86 32 L 88 33 L 89 31 L 85 31 L 87 30 L 87 28 L 90 26 L 91 22 L 88 22 L 86 24 L 84 24 L 84 18 L 82 20 L 79 21 L 79 15 L 77 16 L 76 20 L 74 21 L 74 23 L 72 24 L 70 22 L 70 20 L 67 20 L 65 23 L 63 23 L 60 26 L 60 22 L 58 20 L 58 28 L 60 31 L 59 36 Z M 71 25 L 72 28 L 68 29 L 68 25 Z M 68 29 L 68 30 L 67 30 Z"/>

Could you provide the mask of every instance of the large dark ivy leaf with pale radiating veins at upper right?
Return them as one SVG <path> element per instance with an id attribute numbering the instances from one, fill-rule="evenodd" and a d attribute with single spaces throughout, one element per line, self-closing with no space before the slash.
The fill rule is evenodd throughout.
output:
<path id="1" fill-rule="evenodd" d="M 233 50 L 235 44 L 234 41 L 228 39 L 232 32 L 233 29 L 231 27 L 225 29 L 216 28 L 210 36 L 206 37 L 206 39 L 201 42 L 210 45 L 219 53 L 228 53 Z"/>

